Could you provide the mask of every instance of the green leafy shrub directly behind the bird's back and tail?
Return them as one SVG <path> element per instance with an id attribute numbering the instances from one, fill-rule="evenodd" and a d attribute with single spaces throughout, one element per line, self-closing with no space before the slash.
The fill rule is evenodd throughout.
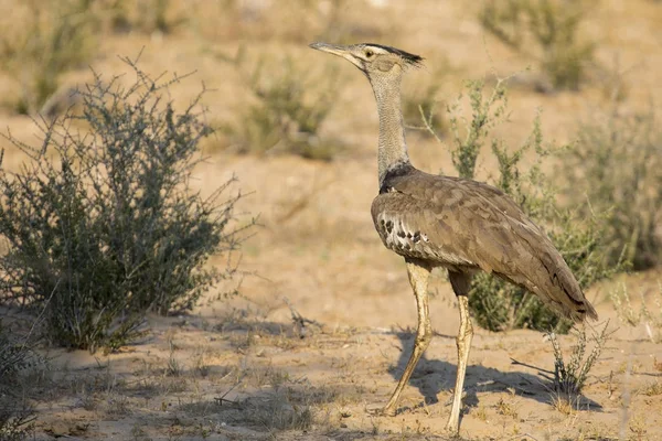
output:
<path id="1" fill-rule="evenodd" d="M 543 162 L 564 152 L 543 142 L 540 115 L 533 130 L 519 148 L 510 148 L 498 138 L 490 139 L 491 130 L 508 117 L 508 95 L 504 80 L 499 80 L 489 94 L 482 82 L 467 85 L 471 118 L 461 114 L 460 99 L 449 107 L 451 128 L 450 152 L 456 172 L 461 178 L 477 176 L 477 162 L 483 144 L 491 143 L 490 152 L 498 163 L 498 173 L 488 180 L 500 187 L 543 227 L 577 277 L 583 289 L 622 268 L 610 262 L 610 248 L 605 241 L 606 214 L 578 213 L 564 209 L 556 202 L 556 189 L 543 173 Z M 527 155 L 532 164 L 521 161 Z M 469 306 L 478 324 L 490 331 L 516 327 L 555 330 L 565 333 L 572 323 L 560 319 L 545 306 L 535 294 L 484 272 L 476 275 L 469 293 Z"/>

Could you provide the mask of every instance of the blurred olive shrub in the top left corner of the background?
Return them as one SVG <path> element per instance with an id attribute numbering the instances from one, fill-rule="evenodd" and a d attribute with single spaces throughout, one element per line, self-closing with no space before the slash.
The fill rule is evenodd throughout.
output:
<path id="1" fill-rule="evenodd" d="M 4 23 L 0 68 L 20 84 L 19 114 L 32 114 L 60 87 L 62 75 L 92 57 L 95 17 L 88 0 L 26 1 L 20 20 Z"/>

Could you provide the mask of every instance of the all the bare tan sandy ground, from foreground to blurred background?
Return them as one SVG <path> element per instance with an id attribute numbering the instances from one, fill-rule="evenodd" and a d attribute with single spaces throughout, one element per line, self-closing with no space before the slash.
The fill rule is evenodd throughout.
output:
<path id="1" fill-rule="evenodd" d="M 241 43 L 254 56 L 282 51 L 313 73 L 328 68 L 329 60 L 306 45 L 320 34 L 314 26 L 296 33 L 287 21 L 278 25 L 278 17 L 269 21 L 271 28 L 250 24 L 249 19 L 248 24 L 236 22 L 244 28 L 229 26 L 222 10 L 214 9 L 222 2 L 193 3 L 209 8 L 194 29 L 103 39 L 93 66 L 97 72 L 121 73 L 126 66 L 116 55 L 135 54 L 145 46 L 141 67 L 148 72 L 196 71 L 193 82 L 173 88 L 172 99 L 188 103 L 204 82 L 212 89 L 205 105 L 213 121 L 236 119 L 246 95 L 241 75 L 216 56 L 234 54 Z M 377 6 L 363 6 L 352 14 L 348 2 L 343 20 L 360 26 L 369 40 L 427 58 L 427 68 L 407 77 L 406 94 L 445 69 L 440 99 L 450 100 L 465 78 L 482 77 L 492 68 L 508 74 L 530 63 L 485 36 L 471 7 L 431 0 L 372 3 Z M 598 4 L 584 31 L 599 42 L 601 64 L 609 66 L 618 56 L 627 71 L 626 109 L 660 101 L 662 6 L 648 0 Z M 215 17 L 220 24 L 214 24 Z M 374 29 L 376 36 L 371 34 Z M 243 248 L 242 298 L 215 301 L 212 292 L 188 315 L 150 318 L 148 335 L 116 354 L 50 349 L 51 370 L 30 378 L 40 397 L 34 439 L 448 438 L 444 427 L 455 383 L 458 313 L 441 272 L 430 284 L 437 336 L 405 389 L 398 415 L 369 412 L 372 405 L 386 402 L 395 387 L 412 348 L 416 312 L 402 259 L 383 248 L 372 226 L 377 116 L 365 79 L 345 64 L 339 66 L 343 84 L 337 106 L 323 127 L 325 135 L 340 133 L 348 146 L 332 162 L 236 155 L 220 151 L 216 141 L 205 146 L 212 154 L 195 171 L 200 189 L 211 192 L 234 173 L 248 194 L 241 212 L 260 216 L 261 225 Z M 599 79 L 580 93 L 544 95 L 526 86 L 537 74 L 527 75 L 511 93 L 511 122 L 500 131 L 506 141 L 525 138 L 538 107 L 544 109 L 545 136 L 565 142 L 573 139 L 579 120 L 607 106 Z M 67 82 L 88 78 L 82 69 Z M 2 96 L 11 97 L 14 87 L 8 78 L 0 80 Z M 0 112 L 0 126 L 26 140 L 35 132 L 29 118 L 7 109 Z M 409 144 L 420 169 L 449 170 L 447 151 L 429 138 L 413 133 Z M 0 146 L 8 148 L 8 166 L 22 161 L 4 140 Z M 490 164 L 483 165 L 489 170 Z M 223 261 L 218 257 L 213 263 Z M 662 346 L 650 342 L 643 325 L 620 324 L 606 295 L 623 282 L 652 304 L 659 280 L 662 275 L 653 270 L 607 281 L 588 292 L 600 324 L 610 319 L 611 329 L 618 330 L 590 372 L 583 396 L 570 407 L 557 400 L 545 379 L 554 357 L 543 334 L 477 330 L 461 435 L 662 439 Z M 296 325 L 288 302 L 312 323 Z M 566 356 L 575 341 L 573 335 L 560 337 Z"/>

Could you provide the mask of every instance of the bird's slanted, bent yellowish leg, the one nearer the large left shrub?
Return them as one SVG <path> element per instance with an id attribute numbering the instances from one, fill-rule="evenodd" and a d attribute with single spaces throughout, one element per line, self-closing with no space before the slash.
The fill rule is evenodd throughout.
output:
<path id="1" fill-rule="evenodd" d="M 430 325 L 430 316 L 428 311 L 428 294 L 427 286 L 430 276 L 430 268 L 423 262 L 407 260 L 407 272 L 409 275 L 409 283 L 416 295 L 416 308 L 418 310 L 418 329 L 416 330 L 416 340 L 414 341 L 414 351 L 409 357 L 409 362 L 405 367 L 395 391 L 391 396 L 388 404 L 382 410 L 385 415 L 395 415 L 397 401 L 403 392 L 403 389 L 409 381 L 409 377 L 420 359 L 420 356 L 430 344 L 433 338 L 433 326 Z"/>

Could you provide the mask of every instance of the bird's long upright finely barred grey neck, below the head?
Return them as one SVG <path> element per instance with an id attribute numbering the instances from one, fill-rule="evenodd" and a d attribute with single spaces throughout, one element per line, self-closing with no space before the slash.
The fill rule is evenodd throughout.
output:
<path id="1" fill-rule="evenodd" d="M 377 165 L 380 171 L 380 187 L 382 187 L 388 169 L 396 164 L 409 163 L 409 155 L 407 154 L 405 127 L 401 109 L 402 77 L 380 79 L 372 83 L 380 114 Z"/>

